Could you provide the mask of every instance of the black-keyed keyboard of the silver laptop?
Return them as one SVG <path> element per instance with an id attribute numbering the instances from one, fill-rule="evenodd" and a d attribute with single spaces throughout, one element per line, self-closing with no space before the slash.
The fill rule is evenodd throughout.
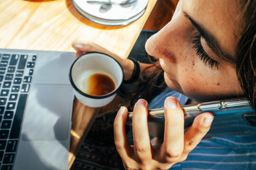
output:
<path id="1" fill-rule="evenodd" d="M 37 55 L 0 52 L 0 170 L 11 170 Z"/>

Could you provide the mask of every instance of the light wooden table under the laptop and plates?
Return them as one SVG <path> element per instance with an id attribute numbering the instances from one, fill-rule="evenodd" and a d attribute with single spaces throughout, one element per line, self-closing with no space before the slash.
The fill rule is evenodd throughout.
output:
<path id="1" fill-rule="evenodd" d="M 82 17 L 71 0 L 0 0 L 0 48 L 74 51 L 74 40 L 95 42 L 127 58 L 156 0 L 128 26 L 101 26 Z M 99 108 L 74 101 L 69 169 Z"/>

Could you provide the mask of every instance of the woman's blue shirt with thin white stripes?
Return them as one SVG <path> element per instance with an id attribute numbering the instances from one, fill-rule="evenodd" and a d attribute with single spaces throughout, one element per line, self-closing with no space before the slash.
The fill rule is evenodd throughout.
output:
<path id="1" fill-rule="evenodd" d="M 181 105 L 189 99 L 167 87 L 149 103 L 149 109 L 163 108 L 168 96 L 176 97 Z M 169 170 L 256 170 L 256 135 L 203 139 L 185 161 Z"/>

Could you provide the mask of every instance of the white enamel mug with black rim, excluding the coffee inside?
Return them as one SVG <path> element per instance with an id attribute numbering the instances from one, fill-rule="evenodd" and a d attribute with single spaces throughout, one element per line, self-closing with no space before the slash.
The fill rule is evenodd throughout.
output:
<path id="1" fill-rule="evenodd" d="M 84 79 L 93 74 L 110 76 L 115 83 L 115 89 L 104 95 L 90 95 L 82 92 Z M 116 96 L 117 90 L 122 85 L 124 73 L 116 59 L 104 53 L 89 52 L 81 55 L 73 62 L 69 79 L 73 85 L 74 95 L 80 102 L 90 107 L 102 107 L 109 104 Z"/>

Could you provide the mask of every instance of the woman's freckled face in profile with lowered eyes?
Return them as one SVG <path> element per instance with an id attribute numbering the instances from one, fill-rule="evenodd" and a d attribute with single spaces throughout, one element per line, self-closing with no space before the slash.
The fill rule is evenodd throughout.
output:
<path id="1" fill-rule="evenodd" d="M 243 95 L 229 63 L 240 34 L 238 14 L 235 0 L 179 1 L 172 20 L 146 42 L 170 88 L 197 102 Z"/>

